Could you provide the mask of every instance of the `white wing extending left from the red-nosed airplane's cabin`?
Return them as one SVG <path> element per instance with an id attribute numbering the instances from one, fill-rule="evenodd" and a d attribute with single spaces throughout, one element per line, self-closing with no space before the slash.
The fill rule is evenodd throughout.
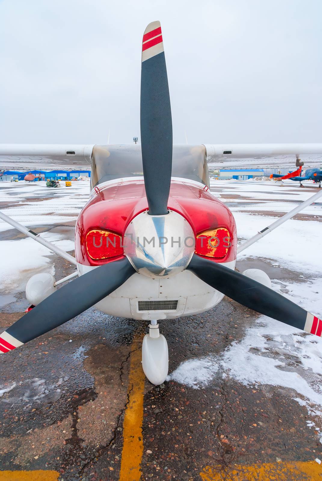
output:
<path id="1" fill-rule="evenodd" d="M 0 169 L 90 168 L 94 144 L 0 144 Z"/>

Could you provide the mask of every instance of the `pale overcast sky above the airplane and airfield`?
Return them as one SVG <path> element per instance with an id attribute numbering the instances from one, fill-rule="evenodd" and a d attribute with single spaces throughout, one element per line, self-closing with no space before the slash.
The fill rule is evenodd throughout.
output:
<path id="1" fill-rule="evenodd" d="M 174 143 L 321 142 L 321 0 L 0 0 L 0 142 L 140 137 L 161 21 Z"/>

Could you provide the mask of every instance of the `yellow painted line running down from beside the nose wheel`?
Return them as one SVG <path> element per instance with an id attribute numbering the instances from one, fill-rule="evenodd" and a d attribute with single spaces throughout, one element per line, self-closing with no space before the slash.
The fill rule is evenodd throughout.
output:
<path id="1" fill-rule="evenodd" d="M 142 420 L 144 373 L 142 369 L 143 333 L 134 335 L 130 355 L 128 395 L 129 403 L 124 414 L 123 449 L 119 481 L 139 481 L 143 454 Z"/>

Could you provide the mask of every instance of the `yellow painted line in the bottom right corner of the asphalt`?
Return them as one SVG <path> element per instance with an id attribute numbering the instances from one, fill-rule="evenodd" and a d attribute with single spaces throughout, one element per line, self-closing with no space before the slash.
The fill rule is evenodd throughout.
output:
<path id="1" fill-rule="evenodd" d="M 222 470 L 206 466 L 200 473 L 202 481 L 317 481 L 322 479 L 322 464 L 316 461 L 235 465 Z"/>

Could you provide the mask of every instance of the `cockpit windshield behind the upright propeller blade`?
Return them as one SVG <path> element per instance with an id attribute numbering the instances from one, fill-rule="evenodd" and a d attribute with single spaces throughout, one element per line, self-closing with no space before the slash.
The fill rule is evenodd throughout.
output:
<path id="1" fill-rule="evenodd" d="M 143 177 L 141 145 L 95 145 L 91 160 L 91 188 L 121 177 Z M 172 176 L 209 187 L 205 146 L 174 145 Z"/>

